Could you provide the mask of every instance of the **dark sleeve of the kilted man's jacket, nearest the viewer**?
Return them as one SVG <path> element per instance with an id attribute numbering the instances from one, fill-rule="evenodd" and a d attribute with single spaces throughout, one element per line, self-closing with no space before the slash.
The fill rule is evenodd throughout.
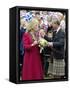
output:
<path id="1" fill-rule="evenodd" d="M 63 47 L 64 46 L 64 40 L 65 40 L 65 35 L 64 33 L 60 34 L 59 40 L 56 42 L 53 42 L 53 47 Z"/>

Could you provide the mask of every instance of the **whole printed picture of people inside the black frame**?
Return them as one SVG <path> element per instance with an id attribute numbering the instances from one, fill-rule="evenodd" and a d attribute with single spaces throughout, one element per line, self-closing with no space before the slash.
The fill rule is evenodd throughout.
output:
<path id="1" fill-rule="evenodd" d="M 65 78 L 65 14 L 20 11 L 20 79 Z"/>

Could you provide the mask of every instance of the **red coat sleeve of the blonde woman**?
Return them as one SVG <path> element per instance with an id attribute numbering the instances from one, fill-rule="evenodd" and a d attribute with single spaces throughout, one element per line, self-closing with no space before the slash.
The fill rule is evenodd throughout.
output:
<path id="1" fill-rule="evenodd" d="M 23 42 L 24 49 L 26 49 L 26 50 L 30 50 L 31 49 L 31 44 L 29 43 L 29 36 L 28 36 L 28 34 L 25 33 L 23 35 L 22 42 Z"/>

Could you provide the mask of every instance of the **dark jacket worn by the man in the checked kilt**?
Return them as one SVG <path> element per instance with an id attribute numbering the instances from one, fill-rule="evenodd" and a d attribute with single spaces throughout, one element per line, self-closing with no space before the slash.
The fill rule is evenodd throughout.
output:
<path id="1" fill-rule="evenodd" d="M 53 32 L 53 38 L 44 37 L 47 41 L 53 42 L 52 52 L 56 59 L 64 59 L 64 41 L 65 33 L 60 29 L 56 34 Z"/>

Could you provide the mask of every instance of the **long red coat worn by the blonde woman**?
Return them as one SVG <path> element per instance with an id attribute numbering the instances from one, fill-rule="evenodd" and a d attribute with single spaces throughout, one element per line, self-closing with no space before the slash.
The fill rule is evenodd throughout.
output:
<path id="1" fill-rule="evenodd" d="M 25 54 L 23 59 L 22 80 L 43 79 L 41 56 L 38 45 L 31 46 L 33 41 L 29 33 L 24 34 L 23 42 Z"/>

